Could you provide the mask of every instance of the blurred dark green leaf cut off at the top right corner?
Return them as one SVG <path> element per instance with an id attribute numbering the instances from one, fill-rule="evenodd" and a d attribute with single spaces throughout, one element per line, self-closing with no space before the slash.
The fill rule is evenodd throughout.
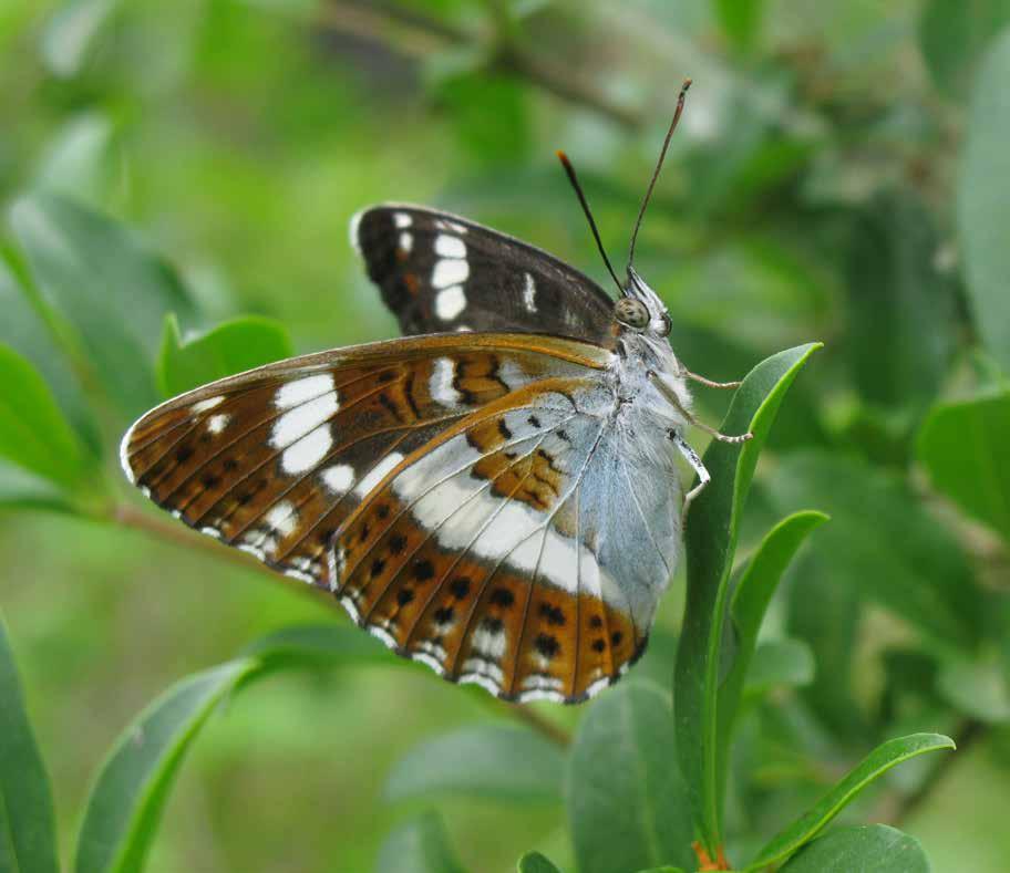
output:
<path id="1" fill-rule="evenodd" d="M 1008 0 L 927 0 L 919 19 L 919 48 L 937 87 L 960 101 L 979 58 L 1008 22 Z"/>

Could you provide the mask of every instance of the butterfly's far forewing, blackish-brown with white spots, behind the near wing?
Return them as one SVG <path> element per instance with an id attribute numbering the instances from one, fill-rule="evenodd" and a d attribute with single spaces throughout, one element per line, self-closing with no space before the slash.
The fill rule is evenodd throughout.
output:
<path id="1" fill-rule="evenodd" d="M 504 233 L 415 206 L 361 212 L 351 240 L 404 333 L 521 331 L 601 343 L 614 303 L 591 279 Z"/>

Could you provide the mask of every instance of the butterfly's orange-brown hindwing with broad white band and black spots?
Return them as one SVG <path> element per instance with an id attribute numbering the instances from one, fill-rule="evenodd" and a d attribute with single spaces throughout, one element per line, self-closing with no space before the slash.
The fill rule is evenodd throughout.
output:
<path id="1" fill-rule="evenodd" d="M 578 700 L 616 679 L 649 621 L 584 537 L 601 527 L 584 492 L 599 492 L 612 403 L 552 380 L 451 428 L 338 531 L 338 596 L 400 654 L 507 699 Z"/>

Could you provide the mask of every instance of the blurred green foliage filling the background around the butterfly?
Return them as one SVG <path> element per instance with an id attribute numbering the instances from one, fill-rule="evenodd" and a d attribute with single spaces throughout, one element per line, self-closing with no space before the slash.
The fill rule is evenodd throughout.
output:
<path id="1" fill-rule="evenodd" d="M 347 245 L 367 204 L 452 209 L 600 277 L 554 149 L 620 260 L 691 75 L 638 249 L 674 349 L 728 380 L 825 341 L 732 503 L 754 562 L 730 574 L 731 537 L 720 602 L 754 603 L 730 588 L 748 573 L 774 585 L 786 562 L 754 568 L 781 519 L 831 521 L 760 637 L 725 613 L 739 638 L 680 642 L 723 666 L 756 645 L 728 673 L 733 746 L 688 750 L 729 775 L 726 853 L 814 835 L 802 813 L 870 748 L 883 773 L 919 741 L 885 740 L 939 731 L 961 751 L 888 772 L 784 870 L 1010 867 L 1008 28 L 1002 0 L 0 6 L 0 792 L 38 810 L 0 858 L 53 869 L 54 830 L 79 870 L 131 869 L 148 842 L 153 871 L 512 870 L 529 849 L 523 870 L 693 869 L 667 690 L 683 579 L 637 679 L 524 726 L 320 624 L 326 601 L 151 536 L 114 449 L 167 393 L 392 335 Z M 725 403 L 699 397 L 711 422 Z M 79 851 L 86 803 L 101 839 Z"/>

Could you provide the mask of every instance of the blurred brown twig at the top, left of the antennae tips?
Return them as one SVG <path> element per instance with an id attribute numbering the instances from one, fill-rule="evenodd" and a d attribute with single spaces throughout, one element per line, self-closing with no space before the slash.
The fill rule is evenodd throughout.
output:
<path id="1" fill-rule="evenodd" d="M 400 31 L 395 50 L 416 58 L 445 44 L 478 46 L 483 40 L 478 34 L 387 0 L 333 0 L 322 7 L 317 20 L 331 30 L 377 42 L 388 41 L 388 25 L 392 23 Z M 513 40 L 495 46 L 488 64 L 492 70 L 526 79 L 560 100 L 592 110 L 625 127 L 636 128 L 642 124 L 642 116 L 637 111 L 615 103 L 569 70 L 535 58 Z"/>

